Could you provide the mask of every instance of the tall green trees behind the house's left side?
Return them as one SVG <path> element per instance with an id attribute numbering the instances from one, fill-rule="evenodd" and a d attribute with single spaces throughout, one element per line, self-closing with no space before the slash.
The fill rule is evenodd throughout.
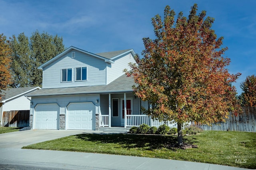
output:
<path id="1" fill-rule="evenodd" d="M 42 86 L 42 70 L 38 66 L 52 59 L 62 51 L 64 45 L 62 37 L 52 36 L 48 33 L 32 33 L 30 39 L 20 33 L 18 37 L 12 36 L 12 74 L 13 87 Z"/>

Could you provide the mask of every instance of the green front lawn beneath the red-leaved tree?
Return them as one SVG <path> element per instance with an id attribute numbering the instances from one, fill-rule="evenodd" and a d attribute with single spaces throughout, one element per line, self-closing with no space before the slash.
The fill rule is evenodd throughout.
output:
<path id="1" fill-rule="evenodd" d="M 23 147 L 204 162 L 256 169 L 256 133 L 204 131 L 184 136 L 185 143 L 198 148 L 178 149 L 176 136 L 131 134 L 80 134 Z M 237 162 L 234 156 L 249 156 Z"/>

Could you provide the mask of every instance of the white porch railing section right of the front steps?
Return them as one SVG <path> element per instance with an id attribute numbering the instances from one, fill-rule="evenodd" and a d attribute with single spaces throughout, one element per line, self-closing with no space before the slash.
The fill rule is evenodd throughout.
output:
<path id="1" fill-rule="evenodd" d="M 126 127 L 139 127 L 143 123 L 150 125 L 150 117 L 147 115 L 126 115 L 126 122 Z"/>

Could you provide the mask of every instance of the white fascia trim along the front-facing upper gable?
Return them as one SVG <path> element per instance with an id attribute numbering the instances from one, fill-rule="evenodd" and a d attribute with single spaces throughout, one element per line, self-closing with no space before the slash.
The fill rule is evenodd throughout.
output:
<path id="1" fill-rule="evenodd" d="M 47 61 L 46 63 L 40 65 L 40 66 L 38 67 L 38 69 L 43 70 L 43 68 L 44 68 L 46 65 L 48 65 L 49 63 L 52 63 L 52 61 L 55 61 L 56 59 L 58 59 L 59 57 L 61 57 L 62 55 L 64 55 L 64 54 L 67 53 L 68 51 L 70 51 L 70 49 L 74 49 L 74 50 L 80 51 L 80 52 L 82 52 L 82 53 L 86 53 L 86 54 L 92 55 L 92 56 L 94 56 L 94 57 L 97 57 L 97 58 L 99 58 L 99 59 L 104 60 L 104 61 L 107 62 L 107 63 L 114 63 L 114 61 L 112 61 L 111 59 L 107 59 L 107 58 L 105 58 L 105 57 L 96 55 L 96 54 L 94 54 L 94 53 L 90 53 L 90 52 L 88 52 L 88 51 L 84 51 L 84 50 L 82 50 L 82 49 L 78 49 L 78 48 L 76 48 L 76 47 L 71 46 L 71 47 L 69 47 L 68 49 L 66 49 L 65 51 L 63 51 L 62 53 L 56 55 L 55 57 L 53 57 L 52 59 L 50 59 L 49 61 Z"/>

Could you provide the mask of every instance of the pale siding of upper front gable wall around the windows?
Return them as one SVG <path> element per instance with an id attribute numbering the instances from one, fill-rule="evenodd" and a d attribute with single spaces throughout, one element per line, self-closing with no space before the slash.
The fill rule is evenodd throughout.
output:
<path id="1" fill-rule="evenodd" d="M 48 64 L 43 71 L 42 88 L 61 88 L 76 86 L 92 86 L 106 84 L 106 63 L 91 55 L 76 52 L 76 57 L 72 58 L 72 52 L 68 51 L 62 57 Z M 76 68 L 82 68 L 82 80 L 76 81 Z M 62 81 L 62 69 L 72 69 L 68 72 L 68 81 Z M 86 74 L 84 74 L 86 72 Z"/>

